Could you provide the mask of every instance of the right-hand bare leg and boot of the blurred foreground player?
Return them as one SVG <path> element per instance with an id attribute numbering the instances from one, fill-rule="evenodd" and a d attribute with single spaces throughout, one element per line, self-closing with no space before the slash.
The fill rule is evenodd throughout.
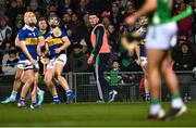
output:
<path id="1" fill-rule="evenodd" d="M 180 95 L 179 90 L 179 82 L 175 73 L 173 72 L 171 67 L 171 54 L 168 52 L 164 61 L 161 65 L 161 72 L 162 75 L 166 78 L 167 86 L 171 92 L 171 110 L 166 115 L 166 119 L 171 119 L 175 116 L 182 115 L 184 112 L 186 112 L 186 106 L 183 103 L 183 100 Z"/>

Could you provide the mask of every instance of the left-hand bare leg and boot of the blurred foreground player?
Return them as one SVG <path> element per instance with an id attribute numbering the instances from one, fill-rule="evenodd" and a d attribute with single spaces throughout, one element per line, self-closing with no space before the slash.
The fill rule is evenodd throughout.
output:
<path id="1" fill-rule="evenodd" d="M 160 104 L 160 65 L 164 56 L 163 50 L 147 50 L 148 56 L 148 84 L 150 86 L 151 103 L 149 107 L 149 119 L 157 119 L 163 117 L 163 113 Z"/>

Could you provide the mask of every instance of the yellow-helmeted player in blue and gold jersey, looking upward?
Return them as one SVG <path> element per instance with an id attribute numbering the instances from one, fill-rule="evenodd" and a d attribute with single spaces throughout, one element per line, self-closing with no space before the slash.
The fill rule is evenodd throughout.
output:
<path id="1" fill-rule="evenodd" d="M 38 29 L 35 27 L 37 20 L 33 12 L 26 12 L 24 14 L 25 25 L 19 31 L 20 40 L 20 63 L 23 63 L 25 84 L 22 88 L 20 102 L 17 105 L 22 108 L 26 108 L 25 97 L 29 87 L 33 86 L 32 91 L 32 108 L 39 108 L 40 105 L 37 102 L 37 82 L 38 80 L 38 63 L 37 63 L 37 44 L 39 41 Z"/>

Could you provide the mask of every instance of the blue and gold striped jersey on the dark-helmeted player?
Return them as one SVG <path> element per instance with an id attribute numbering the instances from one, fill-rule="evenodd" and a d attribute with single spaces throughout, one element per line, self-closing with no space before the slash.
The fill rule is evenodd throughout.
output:
<path id="1" fill-rule="evenodd" d="M 56 55 L 58 55 L 54 52 L 54 49 L 58 49 L 58 48 L 63 46 L 63 43 L 64 43 L 62 40 L 63 37 L 66 37 L 66 33 L 64 30 L 61 30 L 61 35 L 58 37 L 54 37 L 52 31 L 48 31 L 46 34 L 46 40 L 47 40 L 47 43 L 49 46 L 51 59 L 54 57 Z M 63 51 L 61 53 L 63 53 Z"/>

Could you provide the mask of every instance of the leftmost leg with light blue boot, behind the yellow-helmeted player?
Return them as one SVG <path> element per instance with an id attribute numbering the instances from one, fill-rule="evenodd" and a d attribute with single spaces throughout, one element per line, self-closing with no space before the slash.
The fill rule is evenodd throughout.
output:
<path id="1" fill-rule="evenodd" d="M 8 104 L 8 103 L 14 102 L 16 100 L 17 90 L 20 89 L 20 87 L 22 85 L 22 81 L 21 81 L 22 74 L 23 74 L 23 69 L 17 67 L 16 73 L 15 73 L 14 82 L 13 82 L 12 93 L 8 99 L 2 101 L 1 103 Z"/>

